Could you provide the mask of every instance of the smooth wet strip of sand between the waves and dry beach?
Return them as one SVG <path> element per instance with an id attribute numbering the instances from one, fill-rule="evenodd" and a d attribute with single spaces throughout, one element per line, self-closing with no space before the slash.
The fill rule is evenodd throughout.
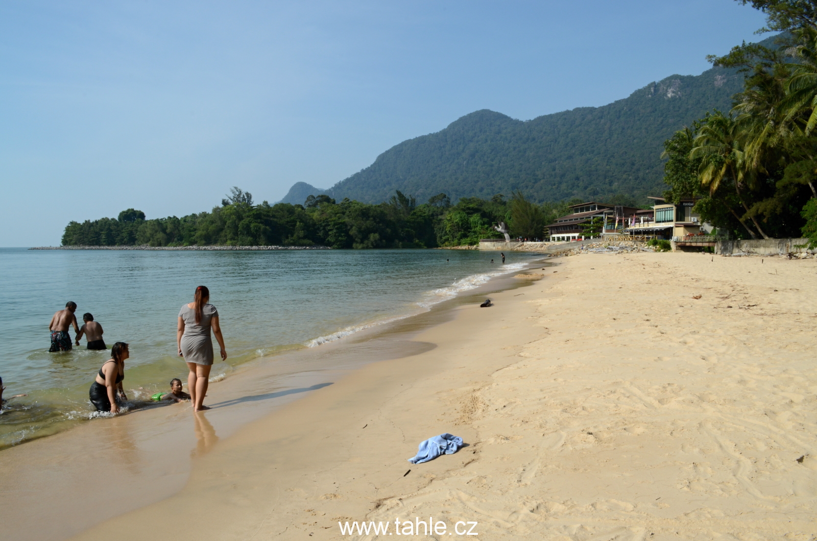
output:
<path id="1" fill-rule="evenodd" d="M 420 314 L 375 325 L 320 347 L 260 357 L 240 365 L 230 378 L 211 385 L 208 403 L 219 406 L 208 412 L 212 421 L 193 423 L 184 403 L 148 407 L 4 449 L 0 468 L 13 472 L 3 476 L 5 490 L 21 490 L 24 495 L 2 507 L 0 520 L 15 524 L 7 532 L 16 539 L 65 539 L 100 520 L 170 497 L 186 482 L 191 453 L 206 453 L 212 441 L 229 437 L 242 425 L 309 391 L 332 385 L 365 364 L 433 348 L 433 344 L 415 342 L 411 337 L 449 319 L 463 302 L 476 302 L 474 296 L 483 297 L 496 288 L 519 287 L 520 280 L 512 277 L 518 271 L 494 276 Z M 109 440 L 108 431 L 115 431 L 123 440 Z M 40 471 L 43 463 L 61 467 Z M 100 468 L 117 471 L 116 490 L 96 479 Z M 77 502 L 71 494 L 81 485 L 111 503 L 100 510 L 93 503 Z M 148 490 L 149 486 L 153 488 Z M 127 499 L 118 497 L 122 491 L 128 494 Z M 43 521 L 43 513 L 49 520 Z M 42 531 L 44 523 L 48 524 L 47 531 Z M 65 534 L 65 525 L 60 523 L 73 524 L 74 530 Z"/>

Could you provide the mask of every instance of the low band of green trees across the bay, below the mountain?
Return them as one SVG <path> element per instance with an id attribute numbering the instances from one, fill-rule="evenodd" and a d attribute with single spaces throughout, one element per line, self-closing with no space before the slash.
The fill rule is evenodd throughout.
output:
<path id="1" fill-rule="evenodd" d="M 438 194 L 427 203 L 396 191 L 386 202 L 337 202 L 310 195 L 304 204 L 264 201 L 234 187 L 210 212 L 148 220 L 129 208 L 117 218 L 71 221 L 64 246 L 314 246 L 330 248 L 435 248 L 504 238 L 493 229 L 500 221 L 511 235 L 541 238 L 544 226 L 569 212 L 568 203 L 538 205 L 520 192 L 510 197 L 459 199 Z"/>

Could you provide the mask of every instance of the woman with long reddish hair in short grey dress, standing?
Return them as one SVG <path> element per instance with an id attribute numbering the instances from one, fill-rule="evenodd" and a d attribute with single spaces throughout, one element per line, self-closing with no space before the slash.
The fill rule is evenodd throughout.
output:
<path id="1" fill-rule="evenodd" d="M 212 338 L 210 329 L 216 335 L 221 347 L 221 360 L 227 358 L 224 349 L 224 337 L 221 336 L 221 327 L 218 324 L 218 311 L 212 306 L 210 290 L 203 285 L 196 288 L 193 302 L 181 306 L 179 324 L 176 330 L 176 343 L 179 347 L 179 356 L 185 358 L 190 373 L 187 376 L 187 390 L 190 392 L 190 401 L 194 411 L 209 409 L 203 405 L 207 396 L 208 379 L 212 367 Z"/>

